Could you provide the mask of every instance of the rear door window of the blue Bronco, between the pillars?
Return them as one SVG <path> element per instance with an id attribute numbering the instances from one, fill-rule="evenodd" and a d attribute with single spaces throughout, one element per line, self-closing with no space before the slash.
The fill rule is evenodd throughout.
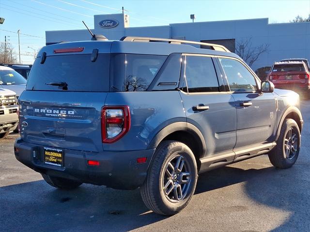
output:
<path id="1" fill-rule="evenodd" d="M 185 76 L 188 92 L 219 91 L 212 58 L 186 56 Z"/>

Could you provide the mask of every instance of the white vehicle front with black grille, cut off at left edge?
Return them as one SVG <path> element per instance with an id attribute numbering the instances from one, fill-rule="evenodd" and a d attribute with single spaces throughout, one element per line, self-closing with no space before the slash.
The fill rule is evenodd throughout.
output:
<path id="1" fill-rule="evenodd" d="M 0 139 L 16 130 L 18 125 L 16 93 L 0 88 Z"/>

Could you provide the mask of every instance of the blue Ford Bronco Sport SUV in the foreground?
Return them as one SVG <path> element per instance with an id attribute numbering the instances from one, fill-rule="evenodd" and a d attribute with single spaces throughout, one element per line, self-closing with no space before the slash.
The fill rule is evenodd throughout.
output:
<path id="1" fill-rule="evenodd" d="M 17 160 L 56 188 L 140 187 L 163 215 L 199 173 L 262 154 L 291 167 L 303 126 L 298 94 L 221 45 L 172 39 L 45 46 L 18 101 Z"/>

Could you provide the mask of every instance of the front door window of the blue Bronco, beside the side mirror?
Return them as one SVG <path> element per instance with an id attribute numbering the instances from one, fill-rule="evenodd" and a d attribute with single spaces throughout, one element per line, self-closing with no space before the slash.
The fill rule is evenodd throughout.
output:
<path id="1" fill-rule="evenodd" d="M 255 77 L 238 60 L 219 58 L 219 61 L 226 74 L 229 87 L 234 92 L 258 90 Z"/>

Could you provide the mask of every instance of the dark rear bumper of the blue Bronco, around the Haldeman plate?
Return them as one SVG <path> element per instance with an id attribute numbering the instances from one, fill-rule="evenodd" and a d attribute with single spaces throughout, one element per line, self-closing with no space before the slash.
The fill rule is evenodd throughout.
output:
<path id="1" fill-rule="evenodd" d="M 42 145 L 17 139 L 14 147 L 16 159 L 36 172 L 116 189 L 141 186 L 155 152 L 155 149 L 98 153 L 64 149 L 64 166 L 58 167 L 44 163 Z M 147 157 L 147 161 L 137 163 L 139 157 Z M 100 164 L 90 166 L 87 160 L 97 160 Z"/>

